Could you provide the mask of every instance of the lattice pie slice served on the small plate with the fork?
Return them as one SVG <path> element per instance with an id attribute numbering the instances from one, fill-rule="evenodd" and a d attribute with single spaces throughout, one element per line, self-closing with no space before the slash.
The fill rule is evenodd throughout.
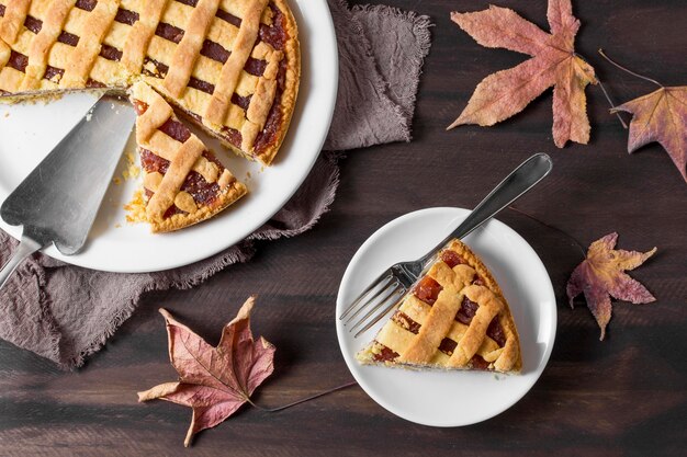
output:
<path id="1" fill-rule="evenodd" d="M 482 261 L 459 240 L 356 357 L 362 364 L 519 373 L 520 342 L 508 302 Z"/>

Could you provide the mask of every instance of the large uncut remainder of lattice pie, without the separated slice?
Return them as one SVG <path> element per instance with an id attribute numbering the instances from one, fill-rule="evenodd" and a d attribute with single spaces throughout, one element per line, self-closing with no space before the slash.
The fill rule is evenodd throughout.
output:
<path id="1" fill-rule="evenodd" d="M 0 0 L 0 100 L 146 81 L 270 164 L 300 76 L 285 0 Z"/>

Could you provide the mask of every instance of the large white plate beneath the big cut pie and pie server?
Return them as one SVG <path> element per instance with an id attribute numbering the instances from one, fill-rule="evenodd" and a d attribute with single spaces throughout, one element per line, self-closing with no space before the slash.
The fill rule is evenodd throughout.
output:
<path id="1" fill-rule="evenodd" d="M 327 2 L 293 0 L 290 4 L 300 30 L 303 75 L 291 129 L 275 163 L 263 170 L 258 163 L 249 163 L 230 152 L 219 152 L 226 149 L 207 140 L 211 149 L 218 152 L 219 159 L 246 183 L 250 193 L 210 221 L 177 233 L 151 235 L 145 224 L 125 221 L 123 205 L 132 198 L 139 181 L 124 181 L 111 186 L 89 242 L 80 254 L 64 256 L 55 247 L 45 250 L 46 254 L 76 265 L 112 272 L 172 269 L 235 244 L 289 201 L 317 159 L 329 129 L 338 84 L 336 37 Z M 92 95 L 78 94 L 48 104 L 0 106 L 0 202 L 76 125 L 93 100 Z M 135 152 L 131 139 L 126 150 Z M 117 175 L 124 165 L 122 163 Z M 15 238 L 21 235 L 21 228 L 1 220 L 0 228 Z"/>

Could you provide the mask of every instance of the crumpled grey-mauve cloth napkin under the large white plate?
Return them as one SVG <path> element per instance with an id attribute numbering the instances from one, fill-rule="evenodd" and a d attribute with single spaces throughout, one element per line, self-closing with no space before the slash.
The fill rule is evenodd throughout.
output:
<path id="1" fill-rule="evenodd" d="M 147 274 L 105 273 L 36 254 L 0 292 L 0 338 L 70 369 L 97 352 L 148 290 L 184 289 L 249 260 L 255 240 L 309 229 L 333 202 L 335 151 L 409 141 L 415 94 L 429 52 L 429 19 L 388 7 L 328 0 L 339 46 L 339 92 L 323 152 L 293 198 L 248 239 L 204 261 Z M 16 241 L 0 231 L 0 264 Z"/>

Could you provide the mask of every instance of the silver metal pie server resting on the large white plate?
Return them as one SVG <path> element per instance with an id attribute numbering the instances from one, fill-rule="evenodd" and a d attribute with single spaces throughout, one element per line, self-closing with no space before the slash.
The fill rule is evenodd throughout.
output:
<path id="1" fill-rule="evenodd" d="M 101 96 L 7 197 L 0 217 L 24 229 L 0 270 L 0 288 L 29 255 L 50 243 L 64 255 L 83 248 L 135 121 L 126 100 Z"/>

